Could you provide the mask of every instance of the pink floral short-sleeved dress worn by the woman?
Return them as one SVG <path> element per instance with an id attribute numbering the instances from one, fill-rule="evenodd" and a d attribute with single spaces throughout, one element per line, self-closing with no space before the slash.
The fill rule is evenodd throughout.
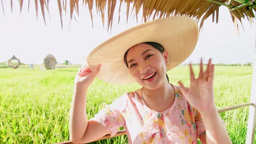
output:
<path id="1" fill-rule="evenodd" d="M 174 104 L 165 111 L 148 108 L 138 89 L 106 105 L 91 120 L 102 124 L 111 136 L 123 126 L 129 144 L 197 144 L 197 137 L 205 134 L 201 115 L 186 101 L 178 86 L 174 89 Z"/>

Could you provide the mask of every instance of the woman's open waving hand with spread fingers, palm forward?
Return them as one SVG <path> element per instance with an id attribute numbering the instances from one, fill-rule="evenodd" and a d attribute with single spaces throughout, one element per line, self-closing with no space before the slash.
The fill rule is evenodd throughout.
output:
<path id="1" fill-rule="evenodd" d="M 200 113 L 207 112 L 210 110 L 209 108 L 216 108 L 213 95 L 213 75 L 214 65 L 211 64 L 211 59 L 209 59 L 205 72 L 203 72 L 201 59 L 200 72 L 197 79 L 195 79 L 192 65 L 190 64 L 190 88 L 185 88 L 181 82 L 178 82 L 184 97 Z"/>

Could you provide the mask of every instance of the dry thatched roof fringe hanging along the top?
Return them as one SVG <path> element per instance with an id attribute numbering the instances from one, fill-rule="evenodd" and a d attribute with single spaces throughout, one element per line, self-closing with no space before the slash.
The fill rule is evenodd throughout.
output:
<path id="1" fill-rule="evenodd" d="M 67 5 L 70 7 L 70 18 L 72 19 L 74 10 L 79 15 L 79 7 L 85 6 L 89 8 L 90 16 L 92 19 L 92 8 L 96 7 L 97 13 L 102 17 L 102 23 L 104 25 L 105 9 L 107 9 L 108 16 L 108 28 L 112 27 L 113 13 L 116 6 L 116 0 L 57 0 L 59 10 L 61 26 L 62 26 L 62 12 L 66 12 Z M 210 2 L 209 2 L 210 1 Z M 240 2 L 237 2 L 240 1 Z M 3 0 L 1 0 L 3 6 Z M 19 0 L 20 12 L 23 7 L 23 0 Z M 30 7 L 30 0 L 29 0 Z M 139 10 L 143 10 L 143 20 L 148 21 L 150 17 L 158 19 L 166 16 L 189 16 L 200 22 L 200 28 L 203 26 L 204 20 L 212 15 L 213 22 L 218 22 L 219 7 L 225 5 L 230 9 L 230 15 L 234 24 L 237 25 L 237 20 L 242 23 L 242 19 L 247 19 L 251 23 L 255 19 L 253 13 L 256 12 L 256 0 L 120 0 L 119 11 L 121 3 L 126 3 L 127 7 L 127 20 L 131 13 L 134 13 L 138 20 Z M 218 4 L 217 4 L 218 3 Z M 245 3 L 245 4 L 243 4 Z M 247 3 L 247 4 L 246 4 Z M 38 5 L 41 7 L 45 22 L 45 10 L 48 9 L 49 0 L 35 0 L 36 16 L 38 16 Z M 221 5 L 220 5 L 221 4 Z M 132 7 L 132 11 L 129 12 L 129 8 Z M 239 8 L 240 7 L 240 8 Z M 251 9 L 249 9 L 251 7 Z M 254 8 L 253 8 L 254 7 Z M 239 8 L 239 9 L 237 9 Z M 249 9 L 249 10 L 246 10 Z M 13 0 L 11 0 L 11 10 L 13 9 Z M 120 19 L 120 13 L 118 22 Z"/>

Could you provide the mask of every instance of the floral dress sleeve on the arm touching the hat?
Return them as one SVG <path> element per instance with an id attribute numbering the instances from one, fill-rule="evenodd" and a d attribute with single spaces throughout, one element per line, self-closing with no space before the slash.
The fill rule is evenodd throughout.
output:
<path id="1" fill-rule="evenodd" d="M 120 127 L 125 125 L 125 109 L 127 105 L 127 93 L 116 99 L 112 104 L 106 105 L 100 110 L 92 121 L 102 124 L 108 134 L 114 136 Z"/>

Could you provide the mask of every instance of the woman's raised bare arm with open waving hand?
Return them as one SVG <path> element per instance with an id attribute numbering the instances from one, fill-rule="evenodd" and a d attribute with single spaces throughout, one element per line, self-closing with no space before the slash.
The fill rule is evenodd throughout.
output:
<path id="1" fill-rule="evenodd" d="M 201 135 L 200 140 L 206 141 L 207 144 L 232 144 L 214 103 L 213 77 L 214 65 L 211 64 L 211 59 L 205 72 L 203 72 L 201 59 L 200 72 L 197 79 L 195 79 L 192 65 L 190 64 L 190 88 L 185 88 L 181 82 L 178 83 L 184 97 L 192 107 L 200 112 L 203 119 L 206 137 Z"/>

